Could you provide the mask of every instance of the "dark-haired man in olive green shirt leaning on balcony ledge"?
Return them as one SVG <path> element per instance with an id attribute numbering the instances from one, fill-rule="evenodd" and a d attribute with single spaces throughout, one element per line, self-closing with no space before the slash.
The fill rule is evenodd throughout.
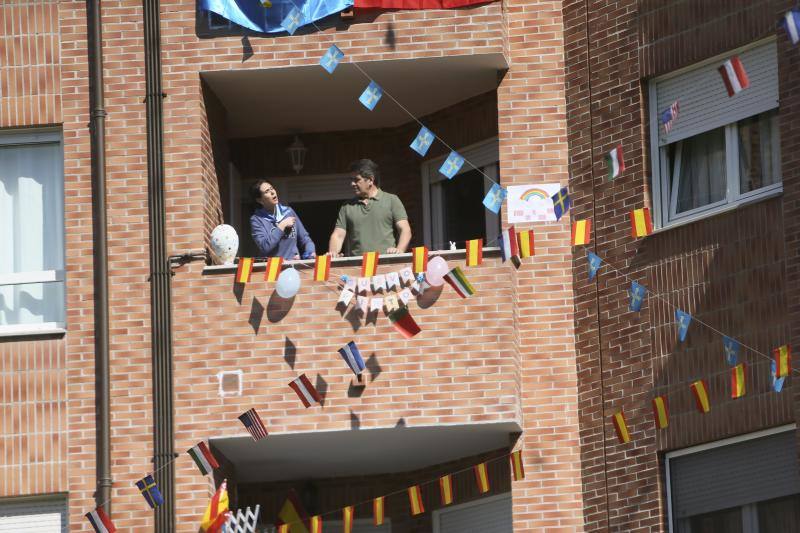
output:
<path id="1" fill-rule="evenodd" d="M 350 165 L 350 176 L 356 197 L 339 209 L 328 253 L 333 257 L 341 255 L 345 239 L 351 255 L 405 252 L 411 242 L 408 215 L 400 198 L 379 188 L 378 165 L 369 159 L 360 159 Z"/>

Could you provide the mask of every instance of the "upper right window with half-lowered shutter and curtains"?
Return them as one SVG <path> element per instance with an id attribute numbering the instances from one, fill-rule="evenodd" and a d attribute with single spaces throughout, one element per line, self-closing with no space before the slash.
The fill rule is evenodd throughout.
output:
<path id="1" fill-rule="evenodd" d="M 717 70 L 738 56 L 750 86 L 729 97 Z M 775 41 L 732 51 L 650 83 L 653 203 L 658 227 L 779 193 Z M 667 132 L 664 110 L 678 102 Z"/>

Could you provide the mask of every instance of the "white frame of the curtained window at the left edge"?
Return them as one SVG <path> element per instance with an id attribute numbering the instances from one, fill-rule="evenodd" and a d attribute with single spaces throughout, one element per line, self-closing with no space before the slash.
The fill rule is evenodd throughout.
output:
<path id="1" fill-rule="evenodd" d="M 0 133 L 0 146 L 26 146 L 32 144 L 58 144 L 61 164 L 61 179 L 62 179 L 62 194 L 61 202 L 65 201 L 66 195 L 63 189 L 64 180 L 64 143 L 62 140 L 61 132 L 58 130 L 44 130 L 44 131 L 27 131 L 27 132 L 3 132 Z M 62 209 L 62 215 L 65 215 L 66 209 Z M 64 236 L 65 223 L 61 219 L 61 226 L 57 231 L 61 232 Z M 62 242 L 65 240 L 62 237 Z M 66 244 L 66 243 L 65 243 Z M 61 264 L 66 264 L 66 246 L 61 250 Z M 55 270 L 42 270 L 31 272 L 14 272 L 11 274 L 0 274 L 0 286 L 5 285 L 23 285 L 29 283 L 64 283 L 66 275 L 64 269 Z M 66 285 L 66 284 L 65 284 Z M 61 301 L 63 309 L 64 320 L 66 321 L 66 286 L 65 297 Z M 47 335 L 58 334 L 66 332 L 65 322 L 41 322 L 38 324 L 9 324 L 0 325 L 0 337 L 15 337 L 24 335 Z"/>

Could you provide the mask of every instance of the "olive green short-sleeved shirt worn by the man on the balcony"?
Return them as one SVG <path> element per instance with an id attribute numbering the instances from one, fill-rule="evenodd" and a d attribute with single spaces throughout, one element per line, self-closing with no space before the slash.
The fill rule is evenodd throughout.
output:
<path id="1" fill-rule="evenodd" d="M 366 204 L 353 198 L 339 209 L 336 227 L 347 232 L 346 245 L 352 255 L 364 252 L 386 252 L 387 248 L 397 246 L 394 226 L 400 220 L 407 220 L 403 202 L 396 195 L 378 190 Z"/>

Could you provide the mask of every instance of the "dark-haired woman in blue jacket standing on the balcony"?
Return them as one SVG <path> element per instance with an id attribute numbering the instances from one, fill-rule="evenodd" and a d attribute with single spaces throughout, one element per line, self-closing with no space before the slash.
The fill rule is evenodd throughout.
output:
<path id="1" fill-rule="evenodd" d="M 250 231 L 262 257 L 311 259 L 316 257 L 314 242 L 294 210 L 278 202 L 278 193 L 266 180 L 251 189 L 261 207 L 250 217 Z"/>

